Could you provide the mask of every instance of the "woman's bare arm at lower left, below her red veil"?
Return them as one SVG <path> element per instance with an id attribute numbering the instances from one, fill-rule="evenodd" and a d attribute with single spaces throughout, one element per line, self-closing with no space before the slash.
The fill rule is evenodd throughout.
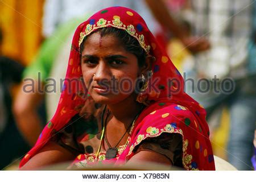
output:
<path id="1" fill-rule="evenodd" d="M 49 141 L 38 154 L 33 156 L 20 170 L 35 170 L 51 164 L 67 162 L 76 158 L 70 151 Z"/>

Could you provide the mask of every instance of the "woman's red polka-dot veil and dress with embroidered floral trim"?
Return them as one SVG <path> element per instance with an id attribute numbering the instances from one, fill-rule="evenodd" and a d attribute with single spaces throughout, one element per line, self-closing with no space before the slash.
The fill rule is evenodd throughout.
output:
<path id="1" fill-rule="evenodd" d="M 84 88 L 81 72 L 82 40 L 98 28 L 115 27 L 138 40 L 147 54 L 155 57 L 150 79 L 138 102 L 145 105 L 131 126 L 124 146 L 113 159 L 106 159 L 104 146 L 96 154 L 106 117 L 105 106 L 93 101 Z M 152 150 L 167 156 L 175 166 L 188 170 L 214 170 L 209 129 L 203 107 L 184 93 L 184 81 L 166 51 L 148 30 L 135 11 L 126 7 L 109 7 L 81 23 L 73 36 L 66 81 L 56 113 L 40 134 L 35 146 L 20 162 L 22 167 L 49 140 L 73 151 L 74 166 L 95 163 L 125 164 L 140 150 Z M 70 83 L 77 80 L 79 87 Z"/>

